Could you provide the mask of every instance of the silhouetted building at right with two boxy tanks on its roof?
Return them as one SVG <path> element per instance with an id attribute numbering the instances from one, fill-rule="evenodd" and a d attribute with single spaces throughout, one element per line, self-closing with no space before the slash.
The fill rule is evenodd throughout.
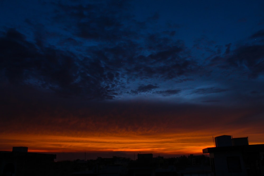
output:
<path id="1" fill-rule="evenodd" d="M 248 137 L 215 137 L 216 147 L 203 149 L 209 153 L 214 176 L 264 176 L 264 144 L 248 144 Z"/>

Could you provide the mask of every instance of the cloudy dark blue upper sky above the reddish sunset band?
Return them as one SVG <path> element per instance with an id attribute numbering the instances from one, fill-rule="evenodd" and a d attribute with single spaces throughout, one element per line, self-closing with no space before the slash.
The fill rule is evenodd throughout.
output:
<path id="1" fill-rule="evenodd" d="M 262 122 L 261 0 L 2 0 L 0 24 L 3 119 L 144 102 L 242 108 Z"/>

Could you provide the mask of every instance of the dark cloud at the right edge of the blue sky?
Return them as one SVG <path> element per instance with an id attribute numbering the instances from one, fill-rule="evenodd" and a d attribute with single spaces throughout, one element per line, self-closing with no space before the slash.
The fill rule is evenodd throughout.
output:
<path id="1" fill-rule="evenodd" d="M 251 35 L 250 38 L 258 38 L 263 36 L 263 30 Z M 250 40 L 246 44 L 237 45 L 231 49 L 231 43 L 225 45 L 224 54 L 215 52 L 205 61 L 208 62 L 208 68 L 229 78 L 244 77 L 244 79 L 256 79 L 264 73 L 264 45 L 263 41 Z M 216 73 L 216 70 L 218 73 Z M 246 78 L 246 77 L 248 78 Z"/>

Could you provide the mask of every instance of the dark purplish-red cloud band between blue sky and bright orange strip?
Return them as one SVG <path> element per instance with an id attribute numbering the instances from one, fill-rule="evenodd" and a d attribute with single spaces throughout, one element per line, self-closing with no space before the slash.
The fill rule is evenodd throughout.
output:
<path id="1" fill-rule="evenodd" d="M 39 97 L 41 101 L 37 99 Z M 146 135 L 169 131 L 190 132 L 201 128 L 222 129 L 223 126 L 232 127 L 230 121 L 236 123 L 241 119 L 243 122 L 239 123 L 239 127 L 247 127 L 248 123 L 257 125 L 254 119 L 259 117 L 249 118 L 251 115 L 263 113 L 261 106 L 230 108 L 159 101 L 100 101 L 84 104 L 79 101 L 67 101 L 65 98 L 55 98 L 57 102 L 50 102 L 49 99 L 44 101 L 43 96 L 39 97 L 29 100 L 23 99 L 26 96 L 17 100 L 13 99 L 15 96 L 8 98 L 8 103 L 14 106 L 4 104 L 0 107 L 1 117 L 5 117 L 1 118 L 4 122 L 0 124 L 1 129 L 7 132 L 17 130 L 21 133 L 41 134 L 44 131 L 45 134 L 84 136 L 91 133 L 97 135 L 96 132 Z M 25 100 L 27 103 L 21 103 Z M 188 128 L 190 125 L 191 129 Z"/>

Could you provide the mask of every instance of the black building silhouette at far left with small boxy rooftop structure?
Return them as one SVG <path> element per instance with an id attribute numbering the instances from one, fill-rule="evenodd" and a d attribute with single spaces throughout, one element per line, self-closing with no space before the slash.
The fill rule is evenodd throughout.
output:
<path id="1" fill-rule="evenodd" d="M 27 147 L 0 151 L 0 175 L 53 175 L 56 155 L 29 153 Z"/>

